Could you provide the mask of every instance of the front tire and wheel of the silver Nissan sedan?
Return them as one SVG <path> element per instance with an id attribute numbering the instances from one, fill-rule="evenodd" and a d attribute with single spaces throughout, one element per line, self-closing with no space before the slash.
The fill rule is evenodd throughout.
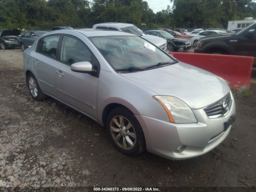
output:
<path id="1" fill-rule="evenodd" d="M 136 155 L 146 149 L 142 128 L 130 110 L 117 107 L 110 111 L 106 128 L 114 147 L 120 152 Z"/>

